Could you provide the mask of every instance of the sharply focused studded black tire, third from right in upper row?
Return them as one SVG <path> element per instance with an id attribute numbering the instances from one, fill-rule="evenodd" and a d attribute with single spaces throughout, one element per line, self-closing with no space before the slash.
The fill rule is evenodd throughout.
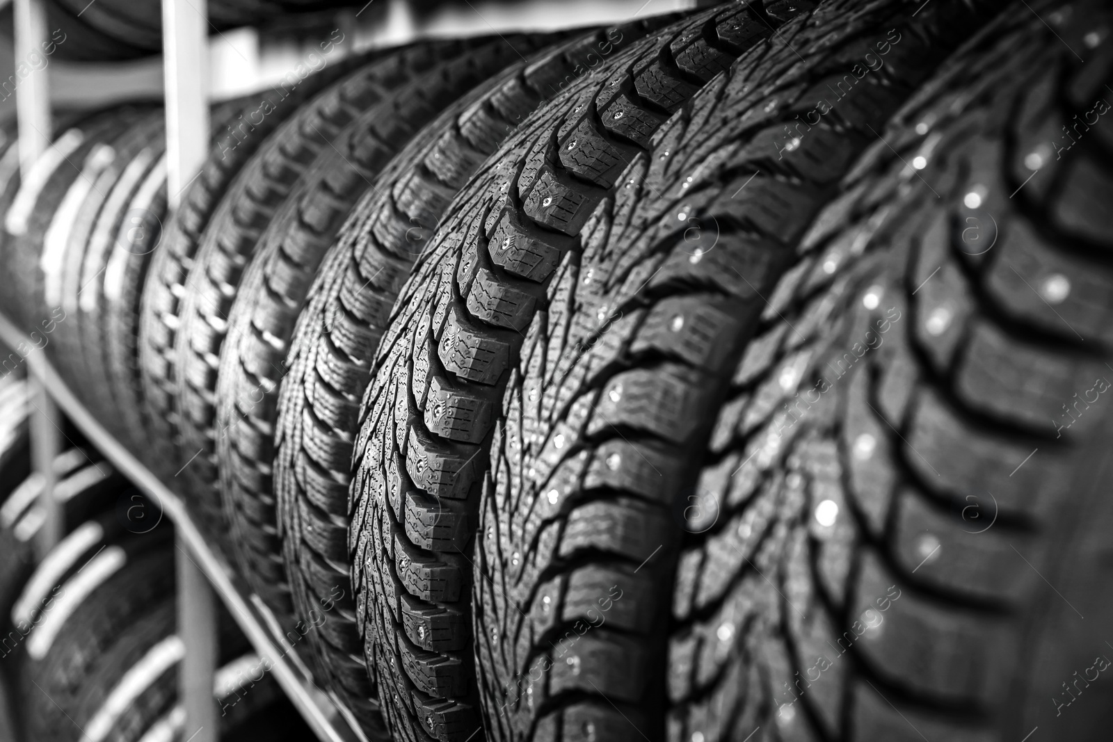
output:
<path id="1" fill-rule="evenodd" d="M 584 101 L 573 99 L 569 92 L 582 88 L 584 80 L 607 80 L 608 72 L 617 65 L 634 59 L 639 50 L 644 53 L 647 47 L 653 50 L 651 55 L 660 53 L 662 47 L 668 49 L 674 34 L 688 24 L 697 32 L 695 36 L 688 33 L 689 38 L 677 49 L 678 56 L 682 55 L 683 63 L 697 70 L 693 77 L 699 79 L 702 75 L 708 79 L 752 42 L 771 32 L 770 23 L 778 21 L 742 12 L 742 17 L 736 10 L 718 19 L 721 36 L 716 30 L 713 14 L 703 14 L 684 26 L 670 27 L 651 41 L 636 46 L 631 52 L 604 61 L 590 77 L 573 78 L 556 101 L 528 120 L 492 158 L 493 167 L 482 171 L 457 197 L 434 237 L 431 251 L 418 261 L 414 277 L 395 305 L 392 324 L 380 345 L 377 370 L 373 373 L 372 386 L 362 406 L 364 423 L 356 447 L 356 461 L 362 462 L 353 485 L 358 509 L 351 544 L 357 550 L 356 588 L 368 614 L 363 626 L 368 655 L 374 653 L 368 662 L 375 662 L 384 674 L 387 667 L 392 669 L 392 711 L 402 720 L 416 721 L 416 724 L 408 723 L 415 736 L 462 740 L 479 725 L 479 691 L 472 680 L 472 632 L 467 620 L 469 553 L 480 496 L 475 474 L 484 466 L 481 447 L 476 444 L 483 442 L 490 429 L 492 403 L 501 392 L 491 387 L 498 387 L 501 369 L 481 379 L 485 380 L 486 389 L 479 385 L 469 387 L 463 379 L 466 374 L 461 374 L 460 367 L 451 368 L 457 372 L 455 376 L 447 373 L 455 358 L 437 354 L 437 340 L 433 337 L 441 334 L 440 328 L 446 321 L 453 321 L 450 317 L 456 297 L 467 294 L 476 275 L 479 280 L 484 280 L 489 273 L 485 248 L 481 248 L 482 257 L 474 250 L 461 256 L 459 248 L 475 239 L 483 229 L 484 219 L 493 227 L 499 212 L 495 209 L 487 218 L 485 209 L 472 211 L 471 199 L 483 192 L 494 178 L 510 172 L 505 167 L 514 168 L 508 154 L 513 151 L 515 142 L 538 137 L 542 127 L 552 126 L 548 122 L 551 118 L 545 119 L 545 115 L 552 117 L 568 110 L 582 117 L 587 112 Z M 711 33 L 707 40 L 702 38 L 705 27 Z M 708 43 L 710 39 L 715 39 L 716 46 Z M 671 51 L 669 55 L 671 67 L 674 61 Z M 670 71 L 662 72 L 663 69 L 660 63 L 656 65 L 650 77 L 656 76 L 658 91 L 678 96 L 673 102 L 682 102 L 697 89 Z M 612 95 L 618 92 L 615 88 L 617 83 L 610 86 Z M 618 117 L 619 120 L 626 112 Z M 648 120 L 652 116 L 658 117 L 657 121 L 664 118 L 649 111 L 644 117 L 631 113 L 629 120 Z M 546 123 L 535 123 L 539 119 Z M 642 133 L 648 136 L 648 131 Z M 578 151 L 587 151 L 584 148 L 598 147 L 599 137 L 583 133 L 570 141 L 569 151 L 575 149 L 577 141 L 581 146 Z M 633 150 L 624 147 L 609 147 L 609 162 L 595 167 L 589 175 L 597 181 L 613 179 L 622 169 L 623 156 L 632 156 Z M 551 158 L 540 152 L 531 157 L 534 172 L 546 159 Z M 590 160 L 584 162 L 589 168 L 594 167 Z M 505 198 L 509 185 L 503 179 L 493 189 Z M 599 189 L 587 186 L 585 190 L 595 195 Z M 540 204 L 541 199 L 538 200 Z M 553 198 L 549 198 L 543 208 L 552 202 Z M 464 214 L 467 216 L 462 216 Z M 559 247 L 542 244 L 545 239 L 542 230 L 522 226 L 511 216 L 500 229 L 510 231 L 498 239 L 491 238 L 492 257 L 500 264 L 512 265 L 519 274 L 531 276 L 535 281 L 546 278 L 554 267 L 553 258 L 559 248 L 568 247 L 567 238 L 563 241 L 554 238 Z M 498 247 L 509 249 L 511 246 L 514 246 L 513 253 L 498 251 Z M 454 271 L 457 259 L 463 284 L 459 290 L 451 284 L 430 280 L 442 275 L 442 265 Z M 451 277 L 452 274 L 443 275 Z M 508 298 L 506 306 L 516 303 L 519 309 L 528 313 L 535 299 L 536 291 L 531 296 L 518 291 L 516 297 Z M 524 325 L 514 329 L 524 329 Z M 445 329 L 442 342 L 450 343 L 466 332 Z M 461 354 L 477 352 L 486 358 L 492 355 L 490 348 L 482 347 L 483 339 L 476 338 L 470 348 L 464 348 L 463 343 Z M 500 335 L 495 343 L 505 343 L 505 338 Z M 450 349 L 449 354 L 452 353 Z M 476 365 L 480 363 L 483 362 Z"/>

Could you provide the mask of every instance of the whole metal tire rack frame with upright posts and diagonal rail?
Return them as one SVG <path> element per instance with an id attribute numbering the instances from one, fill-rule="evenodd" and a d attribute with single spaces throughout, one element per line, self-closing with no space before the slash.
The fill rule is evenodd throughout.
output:
<path id="1" fill-rule="evenodd" d="M 14 49 L 20 59 L 47 40 L 43 0 L 14 0 Z M 161 0 L 164 81 L 166 89 L 167 192 L 169 207 L 199 172 L 208 155 L 209 120 L 207 77 L 208 18 L 204 0 Z M 49 80 L 33 75 L 17 90 L 19 159 L 26 175 L 51 142 Z M 0 343 L 16 347 L 29 342 L 21 330 L 0 315 Z M 365 740 L 351 714 L 314 685 L 304 662 L 282 636 L 277 622 L 213 548 L 190 518 L 185 503 L 89 413 L 66 386 L 42 354 L 27 358 L 30 383 L 30 438 L 32 469 L 41 474 L 42 505 L 47 513 L 40 554 L 61 537 L 60 509 L 53 498 L 51 462 L 61 452 L 62 415 L 85 434 L 105 457 L 155 503 L 175 527 L 177 564 L 178 635 L 185 656 L 178 665 L 178 689 L 186 710 L 186 738 L 190 742 L 217 742 L 217 705 L 213 698 L 216 670 L 216 597 L 243 629 L 269 672 L 325 742 Z"/>

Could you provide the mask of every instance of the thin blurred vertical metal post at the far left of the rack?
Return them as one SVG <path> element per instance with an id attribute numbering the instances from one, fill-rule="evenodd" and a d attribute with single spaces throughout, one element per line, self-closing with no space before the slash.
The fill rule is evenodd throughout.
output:
<path id="1" fill-rule="evenodd" d="M 47 39 L 45 0 L 16 0 L 16 71 L 30 65 L 32 55 L 41 55 Z M 32 69 L 16 88 L 16 119 L 19 123 L 19 166 L 24 176 L 35 160 L 50 146 L 50 85 L 46 69 Z M 53 461 L 61 451 L 61 415 L 53 399 L 36 376 L 28 372 L 31 409 L 31 465 L 42 475 L 39 502 L 47 514 L 36 540 L 39 556 L 45 556 L 62 537 L 61 508 L 55 502 Z"/>

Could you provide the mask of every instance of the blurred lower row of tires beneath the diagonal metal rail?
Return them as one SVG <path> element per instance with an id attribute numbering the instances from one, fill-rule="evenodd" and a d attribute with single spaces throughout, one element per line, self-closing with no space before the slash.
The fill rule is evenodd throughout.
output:
<path id="1" fill-rule="evenodd" d="M 18 451 L 12 445 L 4 453 Z M 6 705 L 18 710 L 6 722 L 13 719 L 19 730 L 6 739 L 188 738 L 177 703 L 184 646 L 174 633 L 171 530 L 157 518 L 156 504 L 95 449 L 75 447 L 52 467 L 68 535 L 37 562 L 42 477 L 30 474 L 7 486 L 26 468 L 7 456 L 0 467 L 0 679 L 12 689 Z M 218 645 L 214 699 L 221 738 L 308 739 L 308 728 L 227 614 Z"/>

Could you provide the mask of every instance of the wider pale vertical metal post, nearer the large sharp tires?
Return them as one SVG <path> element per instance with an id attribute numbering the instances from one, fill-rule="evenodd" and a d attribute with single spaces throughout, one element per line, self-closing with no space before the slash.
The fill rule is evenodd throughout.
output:
<path id="1" fill-rule="evenodd" d="M 176 209 L 181 192 L 208 155 L 208 18 L 204 0 L 162 0 L 162 76 L 166 80 L 167 197 Z M 186 710 L 185 738 L 216 742 L 216 601 L 208 580 L 178 533 L 178 636 L 186 646 L 178 687 Z"/>

